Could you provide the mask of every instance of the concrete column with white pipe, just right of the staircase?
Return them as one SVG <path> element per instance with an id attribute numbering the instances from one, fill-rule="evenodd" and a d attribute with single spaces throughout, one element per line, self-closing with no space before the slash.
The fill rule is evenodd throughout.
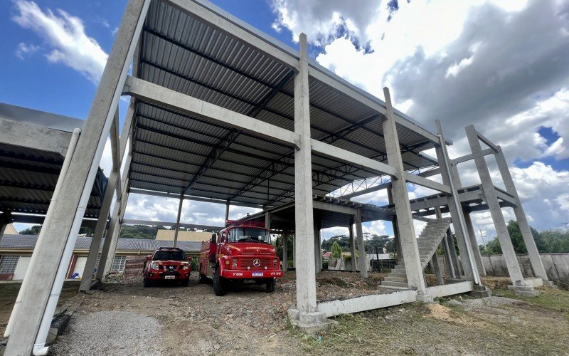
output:
<path id="1" fill-rule="evenodd" d="M 462 206 L 458 197 L 457 187 L 454 184 L 452 171 L 450 169 L 450 159 L 447 152 L 445 137 L 442 134 L 442 127 L 439 120 L 435 120 L 438 129 L 440 146 L 436 147 L 437 159 L 439 161 L 442 182 L 450 187 L 451 197 L 449 197 L 449 211 L 454 226 L 454 235 L 457 236 L 457 245 L 460 251 L 460 259 L 462 261 L 462 271 L 467 281 L 473 281 L 474 284 L 480 284 L 480 275 L 476 262 L 474 262 L 474 251 L 470 245 L 467 236 L 466 224 L 462 215 Z"/>

